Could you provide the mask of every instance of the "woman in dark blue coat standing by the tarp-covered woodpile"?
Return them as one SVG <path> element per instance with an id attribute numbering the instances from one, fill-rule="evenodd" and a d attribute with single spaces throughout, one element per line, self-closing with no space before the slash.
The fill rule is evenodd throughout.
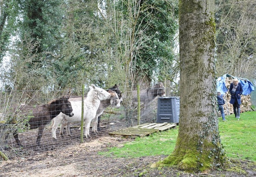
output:
<path id="1" fill-rule="evenodd" d="M 233 105 L 235 117 L 240 118 L 240 104 L 243 87 L 237 78 L 233 79 L 230 84 L 229 92 L 231 94 L 230 104 Z"/>

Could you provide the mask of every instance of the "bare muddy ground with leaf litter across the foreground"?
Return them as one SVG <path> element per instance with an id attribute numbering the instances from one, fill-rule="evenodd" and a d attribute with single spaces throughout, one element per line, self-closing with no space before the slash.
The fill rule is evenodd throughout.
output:
<path id="1" fill-rule="evenodd" d="M 150 168 L 154 162 L 166 156 L 147 156 L 141 158 L 115 158 L 99 155 L 110 147 L 122 147 L 132 138 L 109 136 L 107 131 L 92 135 L 79 142 L 79 133 L 74 132 L 67 139 L 58 136 L 58 140 L 42 139 L 42 145 L 35 145 L 35 132 L 32 138 L 28 133 L 21 140 L 26 143 L 23 149 L 13 143 L 5 152 L 10 158 L 0 161 L 0 177 L 255 177 L 256 164 L 250 161 L 232 161 L 229 170 L 202 173 L 185 173 L 175 168 Z M 51 136 L 46 130 L 44 137 Z M 46 141 L 47 140 L 47 141 Z M 71 141 L 72 140 L 72 141 Z M 30 146 L 29 146 L 30 145 Z M 33 146 L 32 146 L 33 145 Z M 233 170 L 230 170 L 233 169 Z"/>

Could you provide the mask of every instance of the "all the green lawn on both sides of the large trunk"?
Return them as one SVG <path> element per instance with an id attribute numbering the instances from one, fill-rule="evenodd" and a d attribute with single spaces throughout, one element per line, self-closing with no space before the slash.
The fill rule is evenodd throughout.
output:
<path id="1" fill-rule="evenodd" d="M 219 134 L 227 157 L 256 161 L 256 112 L 241 113 L 239 121 L 234 115 L 226 116 L 226 119 L 219 118 Z M 126 158 L 169 155 L 175 148 L 178 129 L 136 138 L 121 148 L 99 153 Z"/>

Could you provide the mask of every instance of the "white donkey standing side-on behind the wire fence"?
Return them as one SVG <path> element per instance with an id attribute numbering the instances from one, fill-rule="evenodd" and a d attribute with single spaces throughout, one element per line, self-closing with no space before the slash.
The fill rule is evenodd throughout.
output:
<path id="1" fill-rule="evenodd" d="M 84 113 L 83 113 L 83 119 L 84 119 L 84 136 L 87 138 L 90 136 L 89 134 L 89 128 L 90 123 L 93 118 L 96 116 L 96 112 L 100 106 L 100 103 L 102 100 L 106 100 L 110 98 L 110 93 L 104 89 L 100 89 L 95 87 L 93 84 L 90 86 L 90 90 L 87 93 L 87 96 L 84 100 Z M 64 114 L 59 114 L 56 118 L 53 119 L 53 125 L 52 125 L 52 136 L 54 139 L 56 139 L 56 129 L 61 123 L 61 121 L 65 118 L 68 122 L 80 122 L 81 121 L 81 101 L 72 101 L 70 99 L 74 116 L 73 118 L 69 118 L 68 116 Z"/>

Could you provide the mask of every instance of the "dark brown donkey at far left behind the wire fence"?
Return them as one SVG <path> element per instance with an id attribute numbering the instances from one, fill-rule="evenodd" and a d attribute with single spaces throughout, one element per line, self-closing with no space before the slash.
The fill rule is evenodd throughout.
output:
<path id="1" fill-rule="evenodd" d="M 48 104 L 43 104 L 39 106 L 21 106 L 16 108 L 15 114 L 20 115 L 24 118 L 29 118 L 26 126 L 29 126 L 29 129 L 38 128 L 37 135 L 37 146 L 40 146 L 41 137 L 43 134 L 44 127 L 50 123 L 50 121 L 58 116 L 60 113 L 63 113 L 69 117 L 72 117 L 73 109 L 70 101 L 68 101 L 69 96 L 63 96 L 58 99 L 48 102 Z M 14 130 L 13 136 L 18 146 L 22 147 L 20 140 L 18 138 L 17 129 Z"/>

